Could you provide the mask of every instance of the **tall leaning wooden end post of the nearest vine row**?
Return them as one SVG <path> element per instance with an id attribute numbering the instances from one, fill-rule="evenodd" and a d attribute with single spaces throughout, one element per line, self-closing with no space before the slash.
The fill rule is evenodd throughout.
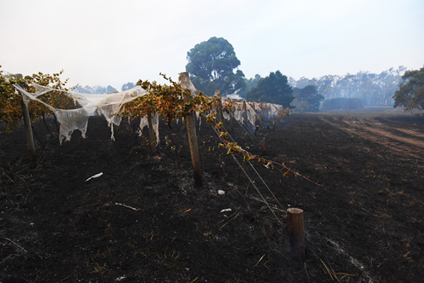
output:
<path id="1" fill-rule="evenodd" d="M 191 91 L 193 93 L 193 84 L 190 81 L 189 73 L 184 71 L 183 73 L 179 73 L 178 83 L 181 88 L 186 89 L 187 91 Z M 184 96 L 184 101 L 189 102 L 191 98 L 189 96 Z M 194 123 L 194 113 L 186 113 L 185 116 L 186 124 L 187 124 L 187 133 L 189 135 L 189 145 L 190 145 L 190 153 L 192 154 L 192 166 L 194 172 L 194 185 L 196 187 L 201 187 L 201 170 L 200 170 L 200 158 L 199 158 L 199 149 L 197 146 L 197 137 L 196 137 L 196 124 Z"/>

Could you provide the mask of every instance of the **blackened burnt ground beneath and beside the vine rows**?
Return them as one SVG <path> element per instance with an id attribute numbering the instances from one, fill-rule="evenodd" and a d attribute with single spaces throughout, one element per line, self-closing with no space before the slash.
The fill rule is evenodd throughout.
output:
<path id="1" fill-rule="evenodd" d="M 157 155 L 124 122 L 111 141 L 107 122 L 90 117 L 87 138 L 76 131 L 62 146 L 47 126 L 35 124 L 35 166 L 22 127 L 0 136 L 2 283 L 422 282 L 423 117 L 294 114 L 257 137 L 230 131 L 252 154 L 265 139 L 264 157 L 319 184 L 252 162 L 272 197 L 237 156 L 278 220 L 204 121 L 201 188 L 181 122 L 178 157 L 165 124 Z M 288 207 L 305 212 L 302 263 L 291 260 Z"/>

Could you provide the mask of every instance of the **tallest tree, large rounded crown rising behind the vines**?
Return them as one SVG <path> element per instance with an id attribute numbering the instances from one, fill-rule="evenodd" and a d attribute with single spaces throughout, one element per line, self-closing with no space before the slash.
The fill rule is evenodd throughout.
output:
<path id="1" fill-rule="evenodd" d="M 225 95 L 246 87 L 245 74 L 240 70 L 234 72 L 240 61 L 230 42 L 223 37 L 211 37 L 196 44 L 187 52 L 187 60 L 186 70 L 192 83 L 208 96 L 213 96 L 216 90 Z"/>

